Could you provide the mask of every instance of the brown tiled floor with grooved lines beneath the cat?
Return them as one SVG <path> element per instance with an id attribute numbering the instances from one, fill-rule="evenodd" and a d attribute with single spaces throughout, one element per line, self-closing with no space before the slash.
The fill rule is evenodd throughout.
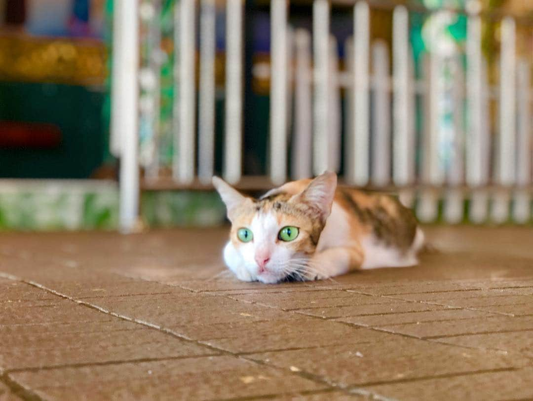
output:
<path id="1" fill-rule="evenodd" d="M 3 234 L 0 400 L 533 398 L 533 230 L 426 232 L 279 285 L 221 273 L 226 229 Z"/>

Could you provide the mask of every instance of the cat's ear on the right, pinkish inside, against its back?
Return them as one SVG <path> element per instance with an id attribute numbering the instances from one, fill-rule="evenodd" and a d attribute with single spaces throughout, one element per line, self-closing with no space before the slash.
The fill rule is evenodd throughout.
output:
<path id="1" fill-rule="evenodd" d="M 326 171 L 313 179 L 300 194 L 293 197 L 293 201 L 304 202 L 319 214 L 322 222 L 326 222 L 332 211 L 333 197 L 337 188 L 337 175 Z"/>

